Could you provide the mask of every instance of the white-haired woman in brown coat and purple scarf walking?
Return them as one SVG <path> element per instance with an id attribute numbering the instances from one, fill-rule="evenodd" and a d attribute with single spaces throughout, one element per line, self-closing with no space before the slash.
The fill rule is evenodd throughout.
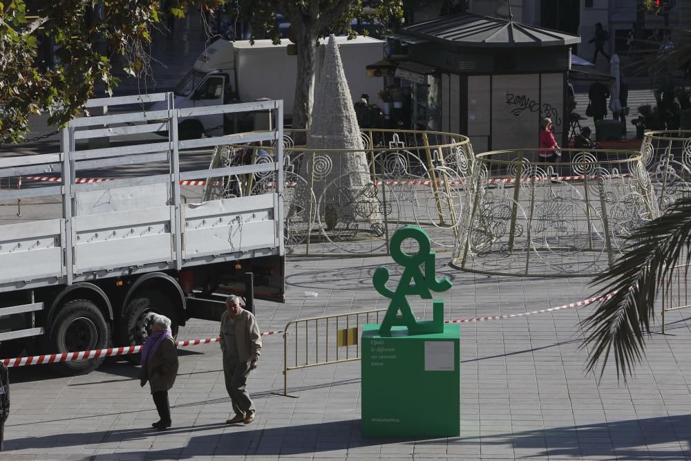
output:
<path id="1" fill-rule="evenodd" d="M 140 374 L 142 387 L 149 380 L 153 403 L 160 420 L 151 424 L 159 431 L 165 431 L 171 424 L 171 407 L 168 391 L 178 376 L 178 348 L 171 333 L 171 319 L 154 314 L 151 319 L 151 335 L 142 347 L 140 362 L 144 373 Z"/>

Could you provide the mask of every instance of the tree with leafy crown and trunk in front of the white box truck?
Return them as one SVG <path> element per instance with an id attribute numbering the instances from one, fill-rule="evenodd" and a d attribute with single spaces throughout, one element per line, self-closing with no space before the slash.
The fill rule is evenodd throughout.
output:
<path id="1" fill-rule="evenodd" d="M 294 128 L 310 126 L 314 102 L 314 75 L 316 46 L 321 37 L 329 33 L 345 32 L 354 35 L 351 21 L 379 21 L 384 27 L 401 22 L 403 0 L 370 0 L 363 6 L 361 0 L 239 0 L 240 12 L 252 18 L 253 30 L 267 32 L 278 43 L 280 31 L 276 13 L 290 22 L 291 39 L 297 48 L 297 79 L 293 106 Z"/>

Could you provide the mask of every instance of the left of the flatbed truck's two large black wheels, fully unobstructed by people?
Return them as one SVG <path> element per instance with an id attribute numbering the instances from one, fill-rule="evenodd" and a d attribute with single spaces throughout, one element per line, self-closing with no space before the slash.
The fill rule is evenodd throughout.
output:
<path id="1" fill-rule="evenodd" d="M 75 299 L 61 306 L 48 337 L 49 353 L 77 352 L 107 348 L 111 342 L 108 323 L 96 305 L 87 299 Z M 99 359 L 65 361 L 52 364 L 63 375 L 85 375 L 98 368 Z"/>

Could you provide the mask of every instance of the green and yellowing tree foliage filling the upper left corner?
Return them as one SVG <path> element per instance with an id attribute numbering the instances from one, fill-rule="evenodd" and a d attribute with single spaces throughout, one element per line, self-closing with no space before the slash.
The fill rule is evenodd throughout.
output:
<path id="1" fill-rule="evenodd" d="M 224 2 L 178 0 L 171 14 Z M 21 140 L 28 116 L 40 111 L 49 124 L 64 124 L 97 84 L 112 94 L 114 62 L 131 75 L 146 71 L 144 44 L 160 15 L 160 0 L 0 0 L 0 142 Z M 55 66 L 39 70 L 39 39 L 55 44 Z"/>

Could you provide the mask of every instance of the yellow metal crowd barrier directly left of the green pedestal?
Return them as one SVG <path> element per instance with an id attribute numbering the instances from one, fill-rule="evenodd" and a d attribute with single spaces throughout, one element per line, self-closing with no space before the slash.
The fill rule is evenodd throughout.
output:
<path id="1" fill-rule="evenodd" d="M 379 314 L 382 312 L 386 312 L 386 309 L 310 317 L 286 323 L 283 328 L 283 395 L 295 397 L 288 395 L 290 370 L 359 360 L 358 332 L 365 323 L 379 323 Z M 290 348 L 294 350 L 290 366 L 288 335 L 292 335 Z M 311 337 L 314 338 L 312 343 Z"/>

